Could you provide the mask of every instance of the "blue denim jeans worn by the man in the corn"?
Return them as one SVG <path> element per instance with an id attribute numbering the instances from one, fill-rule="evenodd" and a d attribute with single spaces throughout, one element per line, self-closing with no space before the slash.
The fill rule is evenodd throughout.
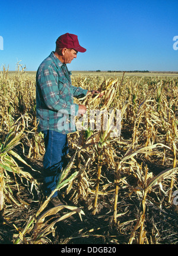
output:
<path id="1" fill-rule="evenodd" d="M 66 155 L 68 154 L 68 139 L 67 135 L 55 132 L 53 130 L 45 130 L 45 155 L 43 158 L 44 171 L 44 192 L 46 196 L 56 188 L 61 169 L 68 164 Z M 57 196 L 55 192 L 53 197 Z"/>

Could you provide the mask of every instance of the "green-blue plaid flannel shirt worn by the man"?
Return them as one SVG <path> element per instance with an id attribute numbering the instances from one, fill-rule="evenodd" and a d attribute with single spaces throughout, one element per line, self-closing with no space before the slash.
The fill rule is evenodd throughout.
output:
<path id="1" fill-rule="evenodd" d="M 62 64 L 54 52 L 51 52 L 40 64 L 36 74 L 38 131 L 55 130 L 63 134 L 75 132 L 75 126 L 68 120 L 71 117 L 74 120 L 74 116 L 78 114 L 78 105 L 74 104 L 74 97 L 80 98 L 87 92 L 88 90 L 81 87 L 72 86 L 71 73 L 66 64 Z M 62 113 L 68 115 L 64 117 Z"/>

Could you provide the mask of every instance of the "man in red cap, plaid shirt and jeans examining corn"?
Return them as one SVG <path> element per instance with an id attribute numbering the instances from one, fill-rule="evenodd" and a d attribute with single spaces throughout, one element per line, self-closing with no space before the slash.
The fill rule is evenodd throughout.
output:
<path id="1" fill-rule="evenodd" d="M 86 112 L 84 105 L 74 104 L 74 97 L 87 95 L 86 89 L 72 86 L 71 73 L 66 64 L 77 58 L 78 52 L 85 52 L 78 36 L 66 33 L 56 40 L 55 52 L 51 52 L 36 74 L 36 114 L 38 131 L 43 132 L 45 155 L 43 158 L 45 195 L 56 188 L 62 168 L 65 168 L 68 154 L 67 134 L 75 132 L 72 123 L 78 114 Z M 92 90 L 91 93 L 99 93 Z M 65 115 L 65 114 L 68 115 Z M 71 120 L 68 120 L 69 117 Z M 55 192 L 51 198 L 53 205 L 62 204 Z"/>

